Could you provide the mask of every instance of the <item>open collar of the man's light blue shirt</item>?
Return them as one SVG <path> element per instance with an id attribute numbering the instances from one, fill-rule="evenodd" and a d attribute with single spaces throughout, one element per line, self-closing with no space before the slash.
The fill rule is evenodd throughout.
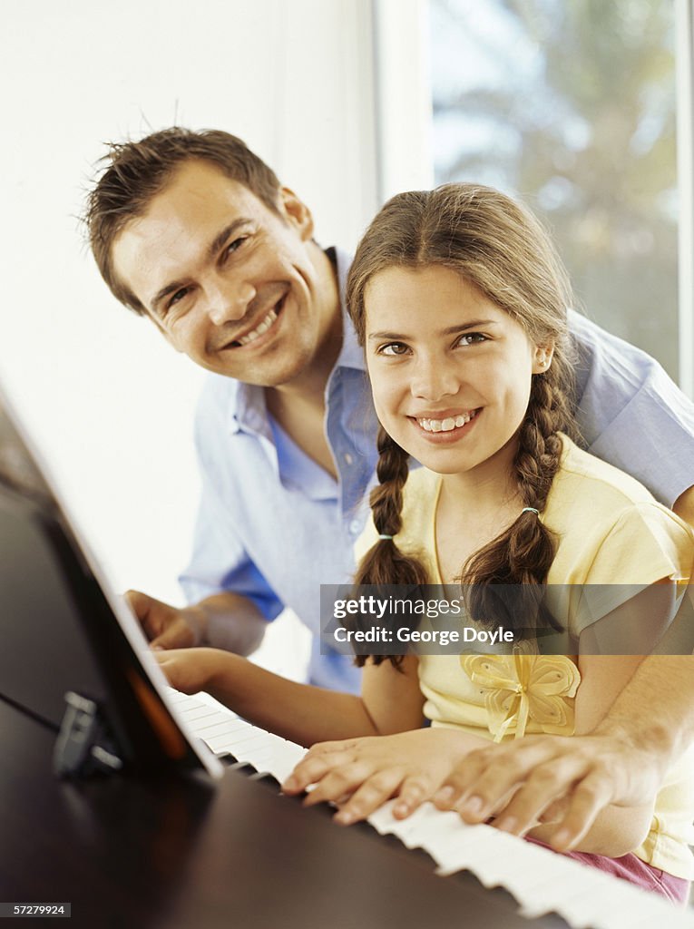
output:
<path id="1" fill-rule="evenodd" d="M 355 371 L 366 371 L 364 352 L 357 342 L 352 321 L 347 315 L 345 307 L 345 292 L 347 286 L 347 272 L 352 263 L 352 256 L 342 249 L 333 250 L 337 267 L 337 285 L 340 293 L 340 310 L 342 312 L 342 348 L 337 357 L 333 373 L 340 368 L 351 368 Z M 268 423 L 268 408 L 265 402 L 265 388 L 256 384 L 245 384 L 229 378 L 229 431 L 239 432 L 242 428 L 251 432 L 271 437 Z"/>

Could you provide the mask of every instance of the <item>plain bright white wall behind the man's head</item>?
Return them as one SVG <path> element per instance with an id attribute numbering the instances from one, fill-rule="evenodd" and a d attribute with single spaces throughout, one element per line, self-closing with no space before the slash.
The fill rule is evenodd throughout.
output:
<path id="1" fill-rule="evenodd" d="M 373 214 L 370 0 L 5 0 L 0 379 L 118 588 L 179 598 L 200 375 L 120 307 L 76 216 L 101 143 L 165 125 L 243 137 L 321 242 Z"/>

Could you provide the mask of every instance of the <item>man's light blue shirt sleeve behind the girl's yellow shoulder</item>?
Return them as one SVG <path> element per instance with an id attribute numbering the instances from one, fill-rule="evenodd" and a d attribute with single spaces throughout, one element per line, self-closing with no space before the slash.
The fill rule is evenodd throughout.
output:
<path id="1" fill-rule="evenodd" d="M 694 404 L 646 352 L 578 313 L 569 320 L 585 447 L 672 506 L 694 485 Z"/>

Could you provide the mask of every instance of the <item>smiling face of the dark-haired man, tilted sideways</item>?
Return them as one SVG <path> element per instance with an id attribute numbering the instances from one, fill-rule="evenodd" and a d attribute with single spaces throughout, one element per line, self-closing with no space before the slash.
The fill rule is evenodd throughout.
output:
<path id="1" fill-rule="evenodd" d="M 305 373 L 334 317 L 307 207 L 282 189 L 278 211 L 190 161 L 112 246 L 116 276 L 178 351 L 261 386 Z"/>

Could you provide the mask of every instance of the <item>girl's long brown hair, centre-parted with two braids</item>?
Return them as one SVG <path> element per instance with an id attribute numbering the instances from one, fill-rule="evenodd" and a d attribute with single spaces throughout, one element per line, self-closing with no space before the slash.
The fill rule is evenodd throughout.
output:
<path id="1" fill-rule="evenodd" d="M 549 236 L 521 204 L 498 190 L 477 184 L 447 184 L 437 190 L 400 193 L 373 219 L 362 238 L 347 278 L 347 308 L 364 345 L 364 294 L 369 281 L 386 268 L 451 268 L 504 309 L 534 345 L 554 345 L 549 368 L 533 374 L 528 410 L 518 433 L 514 459 L 524 506 L 543 512 L 561 453 L 559 431 L 574 432 L 570 412 L 571 367 L 567 307 L 568 276 Z M 382 535 L 401 529 L 402 489 L 409 456 L 381 428 L 379 484 L 370 502 Z M 471 556 L 461 569 L 467 608 L 473 619 L 499 622 L 494 585 L 520 584 L 513 608 L 501 620 L 517 635 L 528 635 L 529 617 L 538 616 L 543 584 L 555 556 L 556 541 L 534 513 L 524 512 L 501 535 Z M 426 583 L 425 566 L 381 539 L 361 559 L 355 583 Z M 537 621 L 536 621 L 537 622 Z M 553 625 L 542 609 L 539 622 Z M 383 661 L 373 656 L 373 661 Z M 357 659 L 363 664 L 365 657 Z M 401 656 L 391 656 L 398 665 Z"/>

